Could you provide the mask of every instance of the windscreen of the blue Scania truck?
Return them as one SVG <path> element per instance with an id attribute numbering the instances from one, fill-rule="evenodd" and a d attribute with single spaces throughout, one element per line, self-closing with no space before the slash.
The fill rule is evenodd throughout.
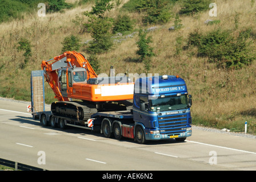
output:
<path id="1" fill-rule="evenodd" d="M 187 96 L 163 97 L 156 100 L 150 100 L 151 111 L 169 111 L 182 110 L 188 108 Z"/>

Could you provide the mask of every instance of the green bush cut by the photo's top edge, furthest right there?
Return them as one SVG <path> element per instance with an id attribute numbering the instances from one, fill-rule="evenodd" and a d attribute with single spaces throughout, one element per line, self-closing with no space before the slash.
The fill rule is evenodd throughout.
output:
<path id="1" fill-rule="evenodd" d="M 180 14 L 190 15 L 209 10 L 210 0 L 184 0 Z"/>

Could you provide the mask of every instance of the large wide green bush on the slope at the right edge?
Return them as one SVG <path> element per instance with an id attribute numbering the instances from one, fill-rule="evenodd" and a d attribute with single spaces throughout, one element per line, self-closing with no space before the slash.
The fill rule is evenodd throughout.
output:
<path id="1" fill-rule="evenodd" d="M 250 28 L 239 32 L 238 36 L 227 30 L 214 30 L 206 35 L 195 32 L 189 35 L 188 44 L 198 47 L 198 56 L 209 57 L 221 67 L 241 68 L 256 59 L 250 35 Z"/>

